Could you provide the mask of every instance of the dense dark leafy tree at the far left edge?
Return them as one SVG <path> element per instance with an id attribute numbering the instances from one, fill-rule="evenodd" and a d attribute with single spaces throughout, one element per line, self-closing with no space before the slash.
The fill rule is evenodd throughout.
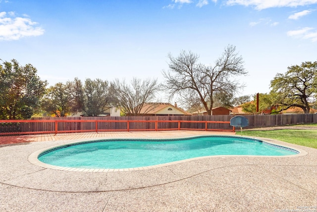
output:
<path id="1" fill-rule="evenodd" d="M 47 81 L 31 64 L 16 60 L 0 65 L 0 119 L 28 119 L 39 108 Z"/>

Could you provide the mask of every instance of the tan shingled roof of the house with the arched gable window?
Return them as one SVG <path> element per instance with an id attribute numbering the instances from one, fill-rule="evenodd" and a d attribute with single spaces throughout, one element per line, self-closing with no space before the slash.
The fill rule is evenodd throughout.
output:
<path id="1" fill-rule="evenodd" d="M 166 114 L 166 112 L 164 111 L 164 109 L 166 108 L 171 108 L 174 111 L 176 110 L 179 114 L 182 114 L 182 115 L 192 115 L 191 113 L 184 111 L 181 108 L 175 107 L 170 103 L 162 103 L 162 102 L 145 103 L 140 113 L 141 114 Z M 171 114 L 175 114 L 175 113 L 171 113 Z"/>

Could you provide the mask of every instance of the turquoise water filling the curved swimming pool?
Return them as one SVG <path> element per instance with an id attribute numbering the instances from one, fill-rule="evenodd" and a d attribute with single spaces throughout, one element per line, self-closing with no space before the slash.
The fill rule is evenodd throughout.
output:
<path id="1" fill-rule="evenodd" d="M 68 144 L 41 153 L 38 159 L 55 166 L 118 169 L 151 166 L 210 155 L 298 153 L 282 146 L 239 137 L 199 137 L 178 140 L 105 140 Z"/>

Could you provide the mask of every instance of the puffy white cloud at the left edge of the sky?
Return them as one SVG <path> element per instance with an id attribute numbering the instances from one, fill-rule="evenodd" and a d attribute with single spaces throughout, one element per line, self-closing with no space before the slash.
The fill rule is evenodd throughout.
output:
<path id="1" fill-rule="evenodd" d="M 0 12 L 0 41 L 1 40 L 19 40 L 28 36 L 43 35 L 44 29 L 36 27 L 37 22 L 28 17 L 15 17 L 14 12 Z"/>

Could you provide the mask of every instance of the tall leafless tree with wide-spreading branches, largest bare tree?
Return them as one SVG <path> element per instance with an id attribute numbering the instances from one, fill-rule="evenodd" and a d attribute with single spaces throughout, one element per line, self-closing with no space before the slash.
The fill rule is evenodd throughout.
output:
<path id="1" fill-rule="evenodd" d="M 234 77 L 246 75 L 243 59 L 236 53 L 236 48 L 229 45 L 215 61 L 214 66 L 198 62 L 199 56 L 191 51 L 182 51 L 170 60 L 169 70 L 162 71 L 165 78 L 164 88 L 170 98 L 175 95 L 187 106 L 201 104 L 211 115 L 214 94 L 233 95 L 243 87 Z"/>

